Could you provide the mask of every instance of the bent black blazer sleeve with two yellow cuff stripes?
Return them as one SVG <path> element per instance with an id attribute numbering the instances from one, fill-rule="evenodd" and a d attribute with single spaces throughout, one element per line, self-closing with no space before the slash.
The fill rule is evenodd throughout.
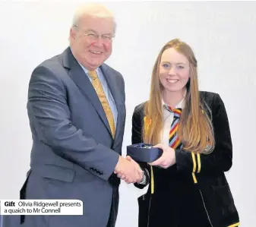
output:
<path id="1" fill-rule="evenodd" d="M 226 109 L 219 94 L 213 96 L 212 122 L 215 137 L 213 152 L 195 154 L 185 150 L 175 150 L 176 165 L 179 171 L 198 174 L 229 171 L 232 166 L 232 140 Z"/>

